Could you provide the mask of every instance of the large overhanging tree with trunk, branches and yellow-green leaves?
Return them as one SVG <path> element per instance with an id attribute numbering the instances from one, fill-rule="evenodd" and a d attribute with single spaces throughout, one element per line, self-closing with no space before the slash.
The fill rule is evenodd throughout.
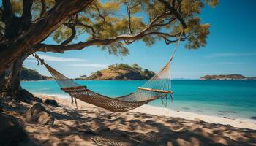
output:
<path id="1" fill-rule="evenodd" d="M 151 46 L 187 39 L 187 48 L 206 44 L 209 24 L 198 15 L 205 4 L 217 0 L 3 0 L 0 9 L 0 88 L 7 69 L 8 86 L 20 88 L 20 69 L 37 51 L 64 53 L 97 45 L 115 55 L 127 55 L 126 45 L 141 40 Z M 124 9 L 122 11 L 121 9 Z M 125 13 L 123 13 L 125 12 Z M 83 34 L 84 41 L 77 38 Z M 52 38 L 56 44 L 45 44 Z"/>

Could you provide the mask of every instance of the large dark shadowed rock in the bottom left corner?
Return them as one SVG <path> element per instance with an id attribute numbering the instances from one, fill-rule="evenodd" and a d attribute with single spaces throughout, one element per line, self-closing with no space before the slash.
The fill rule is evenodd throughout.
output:
<path id="1" fill-rule="evenodd" d="M 0 113 L 0 145 L 18 145 L 27 137 L 26 131 L 20 126 L 18 120 Z"/>

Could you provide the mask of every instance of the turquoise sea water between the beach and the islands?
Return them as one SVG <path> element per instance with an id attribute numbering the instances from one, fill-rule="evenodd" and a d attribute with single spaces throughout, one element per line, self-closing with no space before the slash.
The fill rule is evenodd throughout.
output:
<path id="1" fill-rule="evenodd" d="M 85 81 L 77 80 L 93 91 L 106 96 L 122 96 L 136 90 L 146 81 Z M 60 94 L 55 81 L 22 82 L 31 93 Z M 172 110 L 197 112 L 205 115 L 250 118 L 256 116 L 256 80 L 173 80 L 173 102 L 167 104 Z M 149 103 L 162 106 L 160 100 Z"/>

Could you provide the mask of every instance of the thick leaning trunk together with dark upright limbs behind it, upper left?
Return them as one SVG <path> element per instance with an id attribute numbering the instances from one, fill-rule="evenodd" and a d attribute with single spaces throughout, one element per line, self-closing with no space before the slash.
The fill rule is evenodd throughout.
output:
<path id="1" fill-rule="evenodd" d="M 77 14 L 92 4 L 93 0 L 61 0 L 50 11 L 31 23 L 31 1 L 24 1 L 27 6 L 23 15 L 16 17 L 12 12 L 10 1 L 3 1 L 5 39 L 0 42 L 0 73 L 4 72 L 22 53 L 34 47 L 47 38 L 53 31 L 61 26 L 65 20 Z M 21 24 L 24 24 L 23 26 Z"/>

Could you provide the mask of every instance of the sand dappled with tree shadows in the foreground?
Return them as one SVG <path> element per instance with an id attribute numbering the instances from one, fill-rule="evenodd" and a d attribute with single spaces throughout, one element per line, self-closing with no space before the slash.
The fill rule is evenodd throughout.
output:
<path id="1" fill-rule="evenodd" d="M 37 129 L 27 132 L 38 145 L 256 145 L 256 131 L 250 129 L 98 107 L 47 107 L 56 118 L 53 126 L 23 121 L 25 128 Z M 27 110 L 18 105 L 6 111 L 16 108 L 20 114 Z"/>

